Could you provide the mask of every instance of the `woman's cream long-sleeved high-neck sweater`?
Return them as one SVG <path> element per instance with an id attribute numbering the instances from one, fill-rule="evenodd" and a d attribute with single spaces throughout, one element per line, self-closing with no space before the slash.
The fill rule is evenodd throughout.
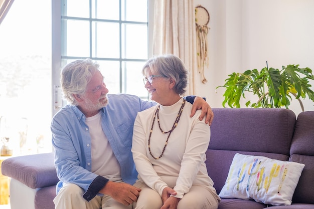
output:
<path id="1" fill-rule="evenodd" d="M 172 106 L 162 106 L 159 111 L 161 128 L 171 130 L 183 99 Z M 186 102 L 177 128 L 171 133 L 164 155 L 154 159 L 148 151 L 148 137 L 155 107 L 139 112 L 134 123 L 132 153 L 138 171 L 138 178 L 162 195 L 166 186 L 177 191 L 175 197 L 182 198 L 192 184 L 213 186 L 208 176 L 205 159 L 210 141 L 210 127 L 199 120 L 201 110 L 191 118 L 192 104 Z M 154 122 L 150 150 L 153 156 L 159 157 L 165 146 L 168 134 L 163 134 Z"/>

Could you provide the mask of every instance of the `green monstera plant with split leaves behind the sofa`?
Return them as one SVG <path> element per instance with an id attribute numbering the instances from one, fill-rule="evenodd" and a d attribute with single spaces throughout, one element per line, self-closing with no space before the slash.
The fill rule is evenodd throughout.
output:
<path id="1" fill-rule="evenodd" d="M 267 66 L 267 62 L 266 62 Z M 309 68 L 299 68 L 299 65 L 282 66 L 281 70 L 264 67 L 260 71 L 247 70 L 244 73 L 232 73 L 225 80 L 223 107 L 240 107 L 240 99 L 245 98 L 245 92 L 256 95 L 256 100 L 252 103 L 248 100 L 246 107 L 263 108 L 288 108 L 292 98 L 298 99 L 302 108 L 300 98 L 306 95 L 314 101 L 314 92 L 311 90 L 309 80 L 314 80 L 312 70 Z M 217 89 L 216 88 L 216 89 Z M 291 97 L 293 95 L 293 97 Z"/>

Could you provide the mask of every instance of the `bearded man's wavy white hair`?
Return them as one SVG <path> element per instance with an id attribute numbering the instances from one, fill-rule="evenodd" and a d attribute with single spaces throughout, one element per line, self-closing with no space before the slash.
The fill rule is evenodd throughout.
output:
<path id="1" fill-rule="evenodd" d="M 87 84 L 99 64 L 91 59 L 76 60 L 67 64 L 61 72 L 61 86 L 64 97 L 73 105 L 77 105 L 75 94 L 85 94 Z"/>

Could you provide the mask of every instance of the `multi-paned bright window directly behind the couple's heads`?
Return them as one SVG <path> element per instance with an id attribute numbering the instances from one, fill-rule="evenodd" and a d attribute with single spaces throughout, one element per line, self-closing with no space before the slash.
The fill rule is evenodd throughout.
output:
<path id="1" fill-rule="evenodd" d="M 61 20 L 56 19 L 53 25 L 61 23 L 60 34 L 56 34 L 62 46 L 60 70 L 74 60 L 90 58 L 100 64 L 109 93 L 147 99 L 141 68 L 148 58 L 148 1 L 59 1 Z M 58 7 L 57 4 L 56 10 Z M 60 101 L 58 80 L 55 79 L 54 88 L 56 97 L 59 96 L 56 100 Z"/>

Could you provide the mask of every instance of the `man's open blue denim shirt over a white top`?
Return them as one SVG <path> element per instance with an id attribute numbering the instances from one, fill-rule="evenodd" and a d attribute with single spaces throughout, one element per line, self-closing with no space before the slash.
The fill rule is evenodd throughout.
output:
<path id="1" fill-rule="evenodd" d="M 194 97 L 190 98 L 193 103 Z M 102 108 L 101 126 L 120 163 L 123 182 L 133 184 L 137 179 L 131 152 L 135 117 L 137 112 L 155 103 L 127 94 L 108 94 L 108 99 L 108 105 Z M 77 106 L 67 105 L 53 117 L 51 131 L 55 166 L 60 179 L 57 193 L 63 182 L 75 183 L 84 189 L 83 197 L 89 201 L 108 179 L 91 172 L 91 137 L 85 119 Z"/>

